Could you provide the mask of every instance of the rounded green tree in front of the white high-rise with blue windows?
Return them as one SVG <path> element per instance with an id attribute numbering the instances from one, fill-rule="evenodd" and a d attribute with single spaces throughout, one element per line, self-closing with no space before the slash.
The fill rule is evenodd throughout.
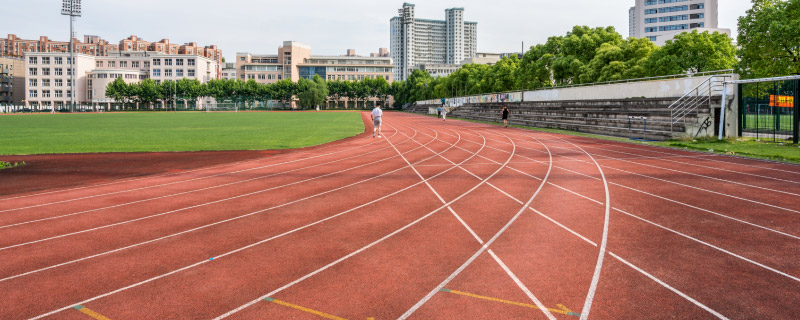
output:
<path id="1" fill-rule="evenodd" d="M 644 65 L 651 76 L 732 69 L 736 47 L 724 33 L 684 32 L 653 51 Z"/>

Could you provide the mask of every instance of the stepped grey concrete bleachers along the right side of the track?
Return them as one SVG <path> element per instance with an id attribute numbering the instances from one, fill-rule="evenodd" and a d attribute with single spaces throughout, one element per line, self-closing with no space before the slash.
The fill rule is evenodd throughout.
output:
<path id="1" fill-rule="evenodd" d="M 720 99 L 712 98 L 684 121 L 671 126 L 668 107 L 677 98 L 630 98 L 606 100 L 539 101 L 516 103 L 468 103 L 455 108 L 448 116 L 502 123 L 501 110 L 511 111 L 509 124 L 536 128 L 552 128 L 608 136 L 646 140 L 666 140 L 694 136 L 706 118 L 712 117 L 713 106 Z M 417 104 L 406 111 L 427 114 L 434 105 Z M 630 119 L 629 117 L 636 117 Z M 647 117 L 645 123 L 641 117 Z M 713 118 L 711 121 L 713 122 Z M 630 121 L 630 122 L 629 122 Z M 630 125 L 630 127 L 629 127 Z M 713 130 L 713 127 L 710 129 Z"/>

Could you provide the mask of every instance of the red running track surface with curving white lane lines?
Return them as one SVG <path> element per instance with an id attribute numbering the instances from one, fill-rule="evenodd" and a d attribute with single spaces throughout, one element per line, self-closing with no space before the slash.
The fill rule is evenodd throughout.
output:
<path id="1" fill-rule="evenodd" d="M 382 139 L 0 197 L 0 318 L 800 313 L 797 166 L 386 118 Z"/>

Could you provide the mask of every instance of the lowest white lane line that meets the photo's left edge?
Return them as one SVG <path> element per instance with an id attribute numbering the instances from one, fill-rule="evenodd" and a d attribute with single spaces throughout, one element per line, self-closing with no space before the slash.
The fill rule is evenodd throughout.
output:
<path id="1" fill-rule="evenodd" d="M 416 136 L 416 134 L 415 134 L 415 136 Z M 433 142 L 433 140 L 429 141 L 428 143 L 432 143 L 432 142 Z M 413 151 L 415 151 L 417 149 L 419 149 L 419 148 L 414 148 L 414 149 L 409 150 L 407 152 L 413 152 Z M 391 156 L 391 157 L 388 157 L 388 158 L 385 158 L 385 159 L 382 159 L 382 160 L 379 160 L 379 161 L 384 161 L 384 160 L 392 159 L 392 158 L 395 158 L 395 157 L 397 157 L 397 156 Z M 370 164 L 371 163 L 368 163 L 368 164 L 365 164 L 365 165 L 362 165 L 362 166 L 367 166 L 367 165 L 370 165 Z M 361 167 L 361 166 L 359 166 L 359 167 Z M 341 170 L 341 171 L 338 171 L 338 172 L 328 173 L 328 175 L 337 174 L 337 173 L 350 171 L 350 170 L 355 170 L 355 169 L 357 169 L 359 167 L 353 167 L 353 168 L 344 169 L 344 170 Z M 226 223 L 226 222 L 230 222 L 230 221 L 234 221 L 234 220 L 239 220 L 239 219 L 242 219 L 242 218 L 245 218 L 245 217 L 249 217 L 249 216 L 252 216 L 252 215 L 256 215 L 256 214 L 259 214 L 259 213 L 263 213 L 263 212 L 271 211 L 271 210 L 274 210 L 274 209 L 282 208 L 282 207 L 289 206 L 289 205 L 292 205 L 292 204 L 296 204 L 296 203 L 299 203 L 299 202 L 302 202 L 302 201 L 305 201 L 305 200 L 308 200 L 308 199 L 312 199 L 312 198 L 316 198 L 316 197 L 319 197 L 319 196 L 322 196 L 322 195 L 325 195 L 325 194 L 329 194 L 329 193 L 332 193 L 332 192 L 335 192 L 335 191 L 343 190 L 343 189 L 346 189 L 346 188 L 349 188 L 349 187 L 352 187 L 352 186 L 355 186 L 355 185 L 358 185 L 358 184 L 361 184 L 361 183 L 364 183 L 364 182 L 367 182 L 367 181 L 371 181 L 371 180 L 380 178 L 382 176 L 386 176 L 386 175 L 392 174 L 394 172 L 398 172 L 398 171 L 403 170 L 405 168 L 407 168 L 407 167 L 401 167 L 401 168 L 398 168 L 398 169 L 383 173 L 381 175 L 378 175 L 378 176 L 375 176 L 375 177 L 372 177 L 372 178 L 369 178 L 369 179 L 365 179 L 365 180 L 361 180 L 361 181 L 358 181 L 358 182 L 354 182 L 354 183 L 351 183 L 349 185 L 345 185 L 345 186 L 338 187 L 338 188 L 335 188 L 335 189 L 327 190 L 327 191 L 324 191 L 324 192 L 321 192 L 321 193 L 318 193 L 318 194 L 314 194 L 314 195 L 311 195 L 311 196 L 308 196 L 308 197 L 305 197 L 305 198 L 297 199 L 297 200 L 294 200 L 294 201 L 291 201 L 291 202 L 286 202 L 286 203 L 283 203 L 283 204 L 280 204 L 280 205 L 276 205 L 276 206 L 273 206 L 273 207 L 270 207 L 270 208 L 254 211 L 254 212 L 243 214 L 243 215 L 236 216 L 236 217 L 233 217 L 233 218 L 229 218 L 229 219 L 225 219 L 225 220 L 222 220 L 222 221 L 206 224 L 206 225 L 203 225 L 203 226 L 200 226 L 200 227 L 196 227 L 196 228 L 192 228 L 192 229 L 189 229 L 189 230 L 181 231 L 181 232 L 178 232 L 178 233 L 166 235 L 166 236 L 163 236 L 163 237 L 160 237 L 160 238 L 156 238 L 156 239 L 152 239 L 152 240 L 148 240 L 148 241 L 132 244 L 132 245 L 129 245 L 129 246 L 117 248 L 117 249 L 114 249 L 114 250 L 105 251 L 105 252 L 94 254 L 94 255 L 91 255 L 91 256 L 87 256 L 87 257 L 83 257 L 83 258 L 79 258 L 79 259 L 75 259 L 75 260 L 59 263 L 59 264 L 56 264 L 56 265 L 52 265 L 52 266 L 36 269 L 36 270 L 33 270 L 33 271 L 28 271 L 28 272 L 25 272 L 25 273 L 9 276 L 9 277 L 0 279 L 0 282 L 11 280 L 11 279 L 14 279 L 14 278 L 27 276 L 27 275 L 31 275 L 31 274 L 42 272 L 42 271 L 49 270 L 49 269 L 54 269 L 54 268 L 57 268 L 57 267 L 62 267 L 62 266 L 65 266 L 65 265 L 73 264 L 73 263 L 84 261 L 84 260 L 97 258 L 97 257 L 108 255 L 108 254 L 111 254 L 111 253 L 120 252 L 120 251 L 123 251 L 123 250 L 127 250 L 127 249 L 131 249 L 131 248 L 143 246 L 143 245 L 146 245 L 146 244 L 149 244 L 149 243 L 153 243 L 153 242 L 156 242 L 156 241 L 160 241 L 160 240 L 164 240 L 164 239 L 168 239 L 168 238 L 173 238 L 173 237 L 176 237 L 176 236 L 179 236 L 179 235 L 182 235 L 182 234 L 194 232 L 194 231 L 197 231 L 197 230 L 202 230 L 202 229 L 209 228 L 209 227 L 212 227 L 212 226 L 215 226 L 215 225 L 219 225 L 219 224 L 222 224 L 222 223 Z"/>

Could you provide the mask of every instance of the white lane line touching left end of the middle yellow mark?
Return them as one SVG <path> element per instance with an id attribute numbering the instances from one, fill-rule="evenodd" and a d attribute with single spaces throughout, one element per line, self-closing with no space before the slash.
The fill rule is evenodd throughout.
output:
<path id="1" fill-rule="evenodd" d="M 477 153 L 475 153 L 475 154 L 477 154 Z M 469 158 L 465 159 L 464 161 L 462 161 L 462 163 L 463 163 L 463 162 L 466 162 L 466 161 L 467 161 L 467 160 L 469 160 L 469 159 L 472 159 L 472 157 L 474 157 L 474 155 L 475 155 L 475 154 L 473 154 L 473 156 L 471 156 L 471 157 L 469 157 Z M 435 156 L 434 156 L 434 157 L 435 157 Z M 511 160 L 511 157 L 509 157 L 509 158 L 508 158 L 508 160 L 510 161 L 510 160 Z M 452 170 L 452 169 L 455 169 L 455 167 L 451 167 L 451 168 L 449 168 L 449 169 L 445 170 L 444 172 L 442 172 L 441 174 L 443 174 L 443 173 L 445 173 L 445 172 L 447 172 L 447 171 L 450 171 L 450 170 Z M 502 168 L 501 168 L 501 169 L 502 169 Z M 394 232 L 392 232 L 392 233 L 390 233 L 390 234 L 388 234 L 388 235 L 384 236 L 383 238 L 380 238 L 380 239 L 378 239 L 378 240 L 376 240 L 376 241 L 374 241 L 374 242 L 372 242 L 372 243 L 370 243 L 370 244 L 368 244 L 368 245 L 366 245 L 366 246 L 364 246 L 364 247 L 362 247 L 362 248 L 360 248 L 360 249 L 358 249 L 358 250 L 356 250 L 356 251 L 354 251 L 354 252 L 352 252 L 352 253 L 350 253 L 350 254 L 348 254 L 348 255 L 344 256 L 344 257 L 342 257 L 342 258 L 339 258 L 338 260 L 336 260 L 336 261 L 334 261 L 334 262 L 331 262 L 331 263 L 329 263 L 329 264 L 327 264 L 327 265 L 323 266 L 322 268 L 319 268 L 319 269 L 317 269 L 317 270 L 315 270 L 315 271 L 313 271 L 313 272 L 311 272 L 311 273 L 309 273 L 309 274 L 306 274 L 306 275 L 305 275 L 305 276 L 303 276 L 303 277 L 300 277 L 300 278 L 298 278 L 298 279 L 296 279 L 296 280 L 294 280 L 294 281 L 292 281 L 292 282 L 290 282 L 290 283 L 288 283 L 288 284 L 286 284 L 286 285 L 284 285 L 284 286 L 282 286 L 282 287 L 280 287 L 280 288 L 278 288 L 278 289 L 275 289 L 275 290 L 273 290 L 272 292 L 269 292 L 269 293 L 267 293 L 266 295 L 263 295 L 263 296 L 261 296 L 261 297 L 259 297 L 259 298 L 257 298 L 257 299 L 254 299 L 254 300 L 252 300 L 252 301 L 250 301 L 250 302 L 248 302 L 248 303 L 246 303 L 246 304 L 244 304 L 244 305 L 241 305 L 241 306 L 237 307 L 236 309 L 233 309 L 233 310 L 231 310 L 231 311 L 228 311 L 228 312 L 226 312 L 225 314 L 222 314 L 222 315 L 220 315 L 220 316 L 218 316 L 218 317 L 216 317 L 216 318 L 214 318 L 214 319 L 215 319 L 215 320 L 219 320 L 219 319 L 224 319 L 224 318 L 227 318 L 227 317 L 229 317 L 229 316 L 233 315 L 234 313 L 237 313 L 237 312 L 239 312 L 239 311 L 242 311 L 242 310 L 244 310 L 244 309 L 246 309 L 246 308 L 248 308 L 248 307 L 250 307 L 250 306 L 252 306 L 252 305 L 254 305 L 254 304 L 256 304 L 256 303 L 258 303 L 259 301 L 263 300 L 263 299 L 264 299 L 264 298 L 266 298 L 266 297 L 274 296 L 274 295 L 275 295 L 276 293 L 278 293 L 278 292 L 281 292 L 281 291 L 283 291 L 283 290 L 286 290 L 286 289 L 288 289 L 288 288 L 290 288 L 290 287 L 294 286 L 295 284 L 297 284 L 297 283 L 300 283 L 300 282 L 304 281 L 305 279 L 308 279 L 308 278 L 310 278 L 310 277 L 312 277 L 312 276 L 314 276 L 314 275 L 316 275 L 316 274 L 318 274 L 318 273 L 320 273 L 320 272 L 323 272 L 323 271 L 327 270 L 328 268 L 330 268 L 330 267 L 333 267 L 333 266 L 335 266 L 335 265 L 339 264 L 340 262 L 342 262 L 342 261 L 345 261 L 345 260 L 349 259 L 350 257 L 353 257 L 353 256 L 355 256 L 355 255 L 357 255 L 357 254 L 359 254 L 359 253 L 363 252 L 364 250 L 367 250 L 367 249 L 371 248 L 372 246 L 374 246 L 374 245 L 376 245 L 376 244 L 378 244 L 378 243 L 381 243 L 381 242 L 383 242 L 383 241 L 384 241 L 384 240 L 386 240 L 386 239 L 389 239 L 389 238 L 391 238 L 391 237 L 392 237 L 392 236 L 394 236 L 395 234 L 398 234 L 398 233 L 402 232 L 403 230 L 406 230 L 406 229 L 408 229 L 408 228 L 410 228 L 410 227 L 412 227 L 412 226 L 416 225 L 416 224 L 417 224 L 417 223 L 419 223 L 420 221 L 427 219 L 428 217 L 432 216 L 433 214 L 435 214 L 435 213 L 437 213 L 437 212 L 441 211 L 442 209 L 446 208 L 447 206 L 449 206 L 449 205 L 450 205 L 450 204 L 452 204 L 453 202 L 456 202 L 456 201 L 458 201 L 459 199 L 463 198 L 464 196 L 468 195 L 469 193 L 471 193 L 472 191 L 474 191 L 475 189 L 477 189 L 478 187 L 480 187 L 481 185 L 483 185 L 483 184 L 484 184 L 486 181 L 488 181 L 488 180 L 489 180 L 491 177 L 493 177 L 493 176 L 494 176 L 495 174 L 497 174 L 498 172 L 500 172 L 500 169 L 498 169 L 498 170 L 497 170 L 497 171 L 495 171 L 495 172 L 494 172 L 494 173 L 493 173 L 491 176 L 489 176 L 489 177 L 487 177 L 486 179 L 482 180 L 480 183 L 478 183 L 477 185 L 473 186 L 471 189 L 467 190 L 466 192 L 462 193 L 461 195 L 459 195 L 459 196 L 458 196 L 458 197 L 456 197 L 455 199 L 453 199 L 453 200 L 450 200 L 450 202 L 448 202 L 448 203 L 446 203 L 446 204 L 442 205 L 441 207 L 439 207 L 439 208 L 437 208 L 437 209 L 435 209 L 435 210 L 433 210 L 433 211 L 429 212 L 428 214 L 426 214 L 426 215 L 424 215 L 424 216 L 420 217 L 419 219 L 412 221 L 411 223 L 409 223 L 409 224 L 407 224 L 407 225 L 403 226 L 402 228 L 395 230 Z M 435 177 L 435 176 L 434 176 L 434 177 Z M 430 179 L 432 179 L 432 178 L 434 178 L 434 177 L 428 178 L 427 180 L 430 180 Z M 418 182 L 418 184 L 422 184 L 422 182 Z"/>

